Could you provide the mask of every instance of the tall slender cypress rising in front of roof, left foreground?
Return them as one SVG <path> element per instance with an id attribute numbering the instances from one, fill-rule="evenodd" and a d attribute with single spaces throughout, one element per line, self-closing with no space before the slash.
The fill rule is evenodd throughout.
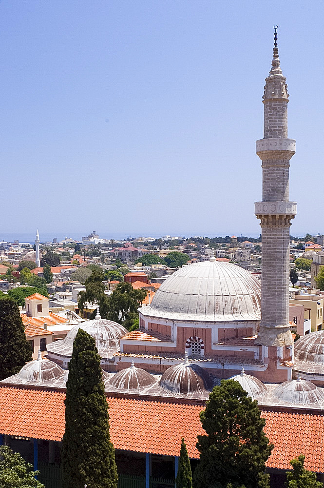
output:
<path id="1" fill-rule="evenodd" d="M 64 488 L 117 488 L 108 405 L 95 340 L 79 329 L 66 383 L 62 440 Z"/>

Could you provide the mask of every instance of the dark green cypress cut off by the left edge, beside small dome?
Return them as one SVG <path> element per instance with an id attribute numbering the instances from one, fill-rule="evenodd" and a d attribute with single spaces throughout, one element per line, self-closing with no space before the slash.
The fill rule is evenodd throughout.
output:
<path id="1" fill-rule="evenodd" d="M 0 380 L 20 371 L 32 360 L 19 307 L 10 298 L 0 299 Z"/>

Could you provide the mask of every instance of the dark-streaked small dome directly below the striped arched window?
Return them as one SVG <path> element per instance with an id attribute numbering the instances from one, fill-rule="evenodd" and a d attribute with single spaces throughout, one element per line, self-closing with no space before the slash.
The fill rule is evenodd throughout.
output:
<path id="1" fill-rule="evenodd" d="M 185 355 L 185 362 L 169 367 L 160 379 L 162 389 L 173 393 L 196 393 L 210 390 L 210 375 L 202 367 L 193 365 Z"/>

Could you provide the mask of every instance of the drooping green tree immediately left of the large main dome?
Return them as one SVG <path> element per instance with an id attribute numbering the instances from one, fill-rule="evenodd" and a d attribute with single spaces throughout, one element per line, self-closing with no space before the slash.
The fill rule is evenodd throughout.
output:
<path id="1" fill-rule="evenodd" d="M 146 291 L 134 290 L 130 283 L 119 283 L 109 296 L 107 319 L 118 322 L 129 330 L 138 318 L 138 307 L 145 297 Z"/>

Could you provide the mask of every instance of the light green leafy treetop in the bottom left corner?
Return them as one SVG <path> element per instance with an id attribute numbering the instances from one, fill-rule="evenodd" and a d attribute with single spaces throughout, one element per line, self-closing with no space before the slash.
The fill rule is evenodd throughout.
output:
<path id="1" fill-rule="evenodd" d="M 2 488 L 45 488 L 35 479 L 39 471 L 26 463 L 18 452 L 8 446 L 0 447 L 0 487 Z"/>

